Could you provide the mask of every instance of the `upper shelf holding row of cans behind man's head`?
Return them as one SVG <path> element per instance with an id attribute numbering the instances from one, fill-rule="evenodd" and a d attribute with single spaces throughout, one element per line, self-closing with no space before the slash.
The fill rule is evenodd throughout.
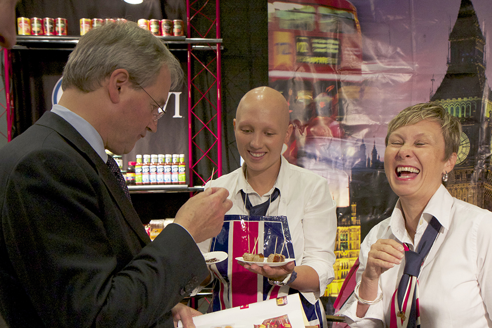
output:
<path id="1" fill-rule="evenodd" d="M 156 36 L 168 44 L 169 50 L 214 50 L 222 39 L 186 38 L 185 36 Z M 80 36 L 17 35 L 14 50 L 73 50 Z M 222 48 L 222 47 L 221 47 Z"/>

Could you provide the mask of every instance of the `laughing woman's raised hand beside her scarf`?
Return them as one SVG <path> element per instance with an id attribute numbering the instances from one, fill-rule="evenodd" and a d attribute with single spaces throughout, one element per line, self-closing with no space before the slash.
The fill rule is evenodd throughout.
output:
<path id="1" fill-rule="evenodd" d="M 379 281 L 379 276 L 403 258 L 403 245 L 393 239 L 378 239 L 372 246 L 367 257 L 364 271 L 365 278 Z"/>

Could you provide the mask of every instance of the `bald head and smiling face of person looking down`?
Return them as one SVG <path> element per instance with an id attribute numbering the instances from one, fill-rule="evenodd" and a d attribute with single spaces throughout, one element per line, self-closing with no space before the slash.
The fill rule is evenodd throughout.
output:
<path id="1" fill-rule="evenodd" d="M 261 87 L 244 95 L 234 119 L 234 134 L 250 176 L 277 176 L 282 146 L 291 132 L 288 105 L 278 91 Z"/>

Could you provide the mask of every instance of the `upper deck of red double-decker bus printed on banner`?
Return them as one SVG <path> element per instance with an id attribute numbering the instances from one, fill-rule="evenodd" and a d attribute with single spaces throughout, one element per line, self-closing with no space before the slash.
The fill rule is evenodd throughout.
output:
<path id="1" fill-rule="evenodd" d="M 329 80 L 360 74 L 362 37 L 350 2 L 269 0 L 268 14 L 271 79 L 292 77 L 288 72 Z"/>

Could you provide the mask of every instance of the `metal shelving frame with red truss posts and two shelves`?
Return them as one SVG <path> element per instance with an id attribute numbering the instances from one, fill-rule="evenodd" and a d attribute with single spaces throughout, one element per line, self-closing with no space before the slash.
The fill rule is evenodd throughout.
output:
<path id="1" fill-rule="evenodd" d="M 222 39 L 220 38 L 219 0 L 187 0 L 187 36 L 156 36 L 164 40 L 171 51 L 187 51 L 188 59 L 188 119 L 189 119 L 189 169 L 190 186 L 131 186 L 134 193 L 144 192 L 182 192 L 191 193 L 203 190 L 203 185 L 212 178 L 212 173 L 198 172 L 198 166 L 210 168 L 214 175 L 222 174 L 222 117 L 221 117 L 221 68 L 220 52 Z M 211 37 L 209 37 L 211 36 Z M 18 35 L 17 44 L 13 50 L 61 50 L 71 51 L 78 43 L 79 36 L 44 36 L 44 35 Z M 207 61 L 202 60 L 199 54 L 203 50 L 213 52 Z M 12 138 L 13 102 L 11 91 L 11 51 L 4 49 L 0 54 L 4 58 L 6 104 L 0 103 L 0 116 L 7 116 L 7 131 L 2 133 L 7 141 Z M 2 73 L 0 73 L 2 74 Z M 202 85 L 197 80 L 203 78 L 211 81 L 210 85 Z M 214 114 L 210 118 L 200 117 L 196 113 L 200 106 L 212 108 Z M 3 109 L 3 112 L 2 112 Z M 210 146 L 201 147 L 199 138 L 211 140 Z M 200 187 L 194 187 L 195 182 Z M 137 188 L 138 187 L 138 188 Z"/>

